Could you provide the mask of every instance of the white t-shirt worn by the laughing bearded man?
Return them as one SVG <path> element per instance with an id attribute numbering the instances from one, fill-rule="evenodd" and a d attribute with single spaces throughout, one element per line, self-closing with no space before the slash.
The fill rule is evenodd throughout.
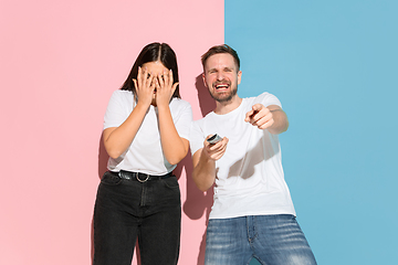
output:
<path id="1" fill-rule="evenodd" d="M 245 215 L 293 214 L 293 202 L 284 180 L 277 135 L 244 121 L 251 107 L 261 103 L 281 106 L 269 93 L 243 98 L 241 105 L 226 115 L 213 112 L 192 123 L 192 155 L 203 147 L 208 135 L 229 139 L 226 153 L 216 161 L 214 203 L 210 219 Z"/>

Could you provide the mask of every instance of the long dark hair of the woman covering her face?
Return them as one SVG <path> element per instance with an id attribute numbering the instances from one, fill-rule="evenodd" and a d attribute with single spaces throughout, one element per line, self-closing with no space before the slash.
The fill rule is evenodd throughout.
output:
<path id="1" fill-rule="evenodd" d="M 135 61 L 130 73 L 128 74 L 127 80 L 121 87 L 122 91 L 130 91 L 134 94 L 134 97 L 137 99 L 137 88 L 134 85 L 133 80 L 137 80 L 138 66 L 143 66 L 145 63 L 160 61 L 166 68 L 172 71 L 172 82 L 179 82 L 178 80 L 178 66 L 177 66 L 177 56 L 172 49 L 167 43 L 154 42 L 146 45 L 143 51 L 139 53 L 137 60 Z M 175 93 L 171 97 L 178 97 L 179 95 L 179 85 L 177 86 Z"/>

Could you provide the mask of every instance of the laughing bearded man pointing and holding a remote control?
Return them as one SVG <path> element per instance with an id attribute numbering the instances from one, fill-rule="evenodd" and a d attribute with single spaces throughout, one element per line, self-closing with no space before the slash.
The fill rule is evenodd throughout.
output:
<path id="1" fill-rule="evenodd" d="M 196 184 L 207 191 L 216 183 L 205 264 L 316 264 L 284 181 L 277 135 L 289 121 L 280 100 L 238 96 L 240 60 L 228 45 L 211 47 L 202 65 L 216 109 L 192 124 L 190 145 Z M 223 138 L 210 144 L 214 134 Z"/>

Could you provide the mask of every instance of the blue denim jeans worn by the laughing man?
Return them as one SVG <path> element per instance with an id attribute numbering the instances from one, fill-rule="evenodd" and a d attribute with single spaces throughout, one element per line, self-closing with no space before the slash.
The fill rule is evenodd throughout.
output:
<path id="1" fill-rule="evenodd" d="M 209 220 L 206 265 L 314 265 L 314 254 L 290 214 Z"/>

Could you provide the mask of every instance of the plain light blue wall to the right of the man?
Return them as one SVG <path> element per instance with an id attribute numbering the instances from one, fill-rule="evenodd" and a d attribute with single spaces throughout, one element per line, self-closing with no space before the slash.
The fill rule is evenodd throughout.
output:
<path id="1" fill-rule="evenodd" d="M 285 179 L 318 264 L 398 264 L 397 1 L 224 4 L 239 95 L 287 113 Z"/>

